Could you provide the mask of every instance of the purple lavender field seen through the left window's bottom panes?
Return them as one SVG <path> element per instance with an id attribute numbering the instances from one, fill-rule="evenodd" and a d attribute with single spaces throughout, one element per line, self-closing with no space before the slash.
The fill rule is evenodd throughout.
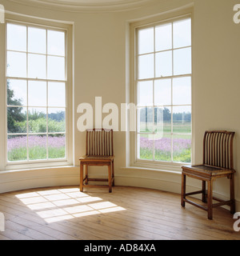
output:
<path id="1" fill-rule="evenodd" d="M 29 160 L 48 158 L 65 158 L 65 135 L 49 135 L 46 147 L 46 135 L 9 136 L 7 140 L 7 153 L 9 161 L 22 161 L 27 159 L 27 143 Z"/>

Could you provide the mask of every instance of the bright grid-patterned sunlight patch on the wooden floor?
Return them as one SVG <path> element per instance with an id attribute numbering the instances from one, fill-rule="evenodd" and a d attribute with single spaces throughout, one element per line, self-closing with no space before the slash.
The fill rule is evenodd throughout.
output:
<path id="1" fill-rule="evenodd" d="M 80 192 L 78 188 L 29 192 L 17 194 L 16 198 L 48 223 L 126 210 L 101 197 Z"/>

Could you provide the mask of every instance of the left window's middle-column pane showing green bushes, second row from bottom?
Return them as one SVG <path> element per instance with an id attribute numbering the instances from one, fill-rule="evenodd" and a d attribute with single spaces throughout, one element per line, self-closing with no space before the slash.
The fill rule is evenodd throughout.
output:
<path id="1" fill-rule="evenodd" d="M 46 108 L 28 109 L 28 131 L 29 133 L 46 133 Z"/>

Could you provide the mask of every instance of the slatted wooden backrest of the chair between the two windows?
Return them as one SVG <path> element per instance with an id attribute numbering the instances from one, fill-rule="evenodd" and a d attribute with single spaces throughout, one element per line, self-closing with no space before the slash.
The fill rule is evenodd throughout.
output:
<path id="1" fill-rule="evenodd" d="M 107 129 L 86 130 L 86 155 L 113 156 L 114 131 Z"/>

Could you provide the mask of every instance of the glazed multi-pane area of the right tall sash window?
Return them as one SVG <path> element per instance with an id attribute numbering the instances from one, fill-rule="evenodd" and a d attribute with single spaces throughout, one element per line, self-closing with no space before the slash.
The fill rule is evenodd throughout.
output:
<path id="1" fill-rule="evenodd" d="M 137 159 L 191 161 L 191 19 L 136 29 Z"/>

